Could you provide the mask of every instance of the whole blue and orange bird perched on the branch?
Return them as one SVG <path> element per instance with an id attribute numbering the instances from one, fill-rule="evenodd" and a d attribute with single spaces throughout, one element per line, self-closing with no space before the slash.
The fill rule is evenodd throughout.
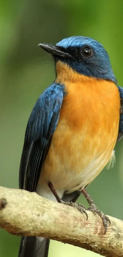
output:
<path id="1" fill-rule="evenodd" d="M 123 135 L 123 89 L 96 40 L 72 36 L 39 46 L 53 56 L 56 79 L 28 120 L 20 188 L 71 205 L 87 217 L 85 207 L 75 203 L 82 192 L 106 232 L 110 221 L 85 188 L 115 159 L 114 146 Z M 23 237 L 18 257 L 47 257 L 48 248 L 48 239 Z"/>

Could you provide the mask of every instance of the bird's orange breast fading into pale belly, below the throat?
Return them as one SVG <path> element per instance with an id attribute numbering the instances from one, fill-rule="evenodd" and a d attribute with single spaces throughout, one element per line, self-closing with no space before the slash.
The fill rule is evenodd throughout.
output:
<path id="1" fill-rule="evenodd" d="M 81 81 L 65 81 L 65 88 L 41 179 L 71 192 L 90 183 L 110 160 L 118 136 L 120 98 L 113 82 L 84 76 Z"/>

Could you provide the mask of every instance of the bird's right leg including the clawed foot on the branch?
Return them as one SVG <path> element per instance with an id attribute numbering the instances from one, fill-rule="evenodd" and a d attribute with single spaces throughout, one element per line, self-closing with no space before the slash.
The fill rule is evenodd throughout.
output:
<path id="1" fill-rule="evenodd" d="M 103 221 L 103 226 L 105 228 L 105 232 L 104 234 L 107 232 L 107 227 L 108 227 L 108 223 L 110 225 L 110 219 L 103 213 L 101 212 L 97 207 L 96 205 L 94 204 L 92 198 L 89 196 L 89 194 L 85 191 L 85 189 L 82 189 L 81 190 L 81 193 L 84 194 L 85 198 L 87 199 L 88 203 L 89 203 L 89 208 L 87 210 L 95 213 L 95 214 L 98 214 L 102 221 Z"/>

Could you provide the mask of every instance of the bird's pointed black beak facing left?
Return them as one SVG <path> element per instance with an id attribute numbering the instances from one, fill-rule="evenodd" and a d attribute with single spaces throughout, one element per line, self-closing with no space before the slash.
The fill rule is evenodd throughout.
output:
<path id="1" fill-rule="evenodd" d="M 71 55 L 67 52 L 64 52 L 63 49 L 61 50 L 60 47 L 58 46 L 54 46 L 51 44 L 38 44 L 38 46 L 40 46 L 41 48 L 43 48 L 46 52 L 48 52 L 49 54 L 51 54 L 52 56 L 61 56 L 63 58 L 69 58 L 71 57 Z"/>

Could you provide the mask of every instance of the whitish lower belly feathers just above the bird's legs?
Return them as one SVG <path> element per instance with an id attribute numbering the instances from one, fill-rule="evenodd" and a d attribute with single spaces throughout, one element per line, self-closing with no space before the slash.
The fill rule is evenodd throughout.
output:
<path id="1" fill-rule="evenodd" d="M 100 155 L 97 159 L 92 160 L 88 167 L 77 174 L 76 171 L 69 171 L 67 173 L 63 172 L 62 174 L 56 171 L 56 176 L 54 179 L 52 177 L 52 184 L 56 189 L 57 194 L 60 198 L 63 197 L 64 192 L 72 193 L 76 190 L 81 190 L 87 184 L 91 183 L 94 178 L 102 171 L 109 161 L 108 168 L 111 167 L 115 162 L 114 151 L 109 157 L 105 156 L 105 153 Z M 42 177 L 42 176 L 41 176 Z M 45 197 L 49 200 L 56 201 L 55 196 L 52 194 L 50 188 L 48 187 L 48 180 L 40 178 L 37 186 L 37 194 Z"/>

